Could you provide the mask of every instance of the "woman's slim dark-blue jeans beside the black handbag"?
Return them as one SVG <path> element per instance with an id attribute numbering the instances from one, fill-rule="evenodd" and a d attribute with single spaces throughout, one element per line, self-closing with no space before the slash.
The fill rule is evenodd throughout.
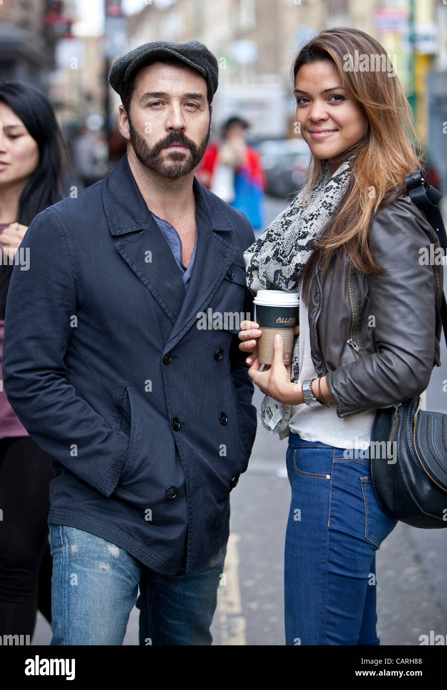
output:
<path id="1" fill-rule="evenodd" d="M 380 644 L 375 555 L 397 520 L 381 510 L 369 451 L 289 435 L 286 644 Z M 348 451 L 352 453 L 352 451 Z M 363 453 L 368 457 L 363 457 Z"/>

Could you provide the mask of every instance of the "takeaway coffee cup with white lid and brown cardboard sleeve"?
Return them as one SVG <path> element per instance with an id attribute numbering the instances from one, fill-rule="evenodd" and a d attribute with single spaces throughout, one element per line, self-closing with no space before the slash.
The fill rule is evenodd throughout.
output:
<path id="1" fill-rule="evenodd" d="M 258 290 L 253 300 L 255 319 L 263 334 L 258 337 L 258 360 L 272 364 L 273 341 L 276 333 L 283 338 L 284 364 L 290 364 L 295 326 L 298 324 L 300 298 L 297 293 L 283 290 Z"/>

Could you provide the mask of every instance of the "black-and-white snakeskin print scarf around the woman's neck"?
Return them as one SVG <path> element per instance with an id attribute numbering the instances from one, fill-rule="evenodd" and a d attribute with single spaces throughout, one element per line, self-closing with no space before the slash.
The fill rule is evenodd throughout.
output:
<path id="1" fill-rule="evenodd" d="M 283 213 L 272 221 L 267 230 L 244 252 L 247 286 L 256 295 L 258 290 L 298 292 L 298 281 L 316 240 L 336 213 L 348 186 L 351 162 L 356 154 L 345 160 L 332 174 L 330 163 L 322 161 L 322 169 L 312 187 L 310 203 L 303 208 L 308 188 L 301 190 Z M 291 362 L 291 381 L 299 374 L 299 336 L 294 339 Z M 265 395 L 261 405 L 261 422 L 280 438 L 288 434 L 292 406 L 276 402 Z"/>

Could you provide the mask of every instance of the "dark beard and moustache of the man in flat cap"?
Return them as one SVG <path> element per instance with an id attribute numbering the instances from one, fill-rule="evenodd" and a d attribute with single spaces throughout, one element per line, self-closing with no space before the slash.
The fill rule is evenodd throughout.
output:
<path id="1" fill-rule="evenodd" d="M 127 119 L 129 121 L 129 132 L 133 150 L 135 151 L 137 159 L 146 166 L 146 168 L 158 172 L 158 174 L 163 175 L 163 177 L 178 179 L 178 177 L 188 175 L 188 173 L 196 168 L 202 160 L 209 141 L 211 117 L 209 118 L 207 135 L 200 141 L 200 144 L 194 144 L 191 139 L 184 136 L 183 132 L 169 132 L 169 135 L 167 135 L 165 139 L 162 139 L 158 144 L 152 147 L 147 144 L 146 140 L 143 139 L 137 131 L 135 131 L 129 114 L 127 115 Z M 162 156 L 162 149 L 172 144 L 187 146 L 190 153 L 173 149 L 169 151 L 167 157 L 164 158 Z"/>

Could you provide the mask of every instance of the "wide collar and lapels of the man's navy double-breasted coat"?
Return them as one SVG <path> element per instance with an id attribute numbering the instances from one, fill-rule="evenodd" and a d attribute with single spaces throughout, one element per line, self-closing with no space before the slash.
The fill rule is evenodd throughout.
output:
<path id="1" fill-rule="evenodd" d="M 197 313 L 218 288 L 237 250 L 227 239 L 231 238 L 227 233 L 234 231 L 229 216 L 196 177 L 193 190 L 198 239 L 186 291 L 172 250 L 146 206 L 127 155 L 102 181 L 108 227 L 114 237 L 121 238 L 115 247 L 173 324 L 164 351 L 169 351 L 191 327 Z"/>

